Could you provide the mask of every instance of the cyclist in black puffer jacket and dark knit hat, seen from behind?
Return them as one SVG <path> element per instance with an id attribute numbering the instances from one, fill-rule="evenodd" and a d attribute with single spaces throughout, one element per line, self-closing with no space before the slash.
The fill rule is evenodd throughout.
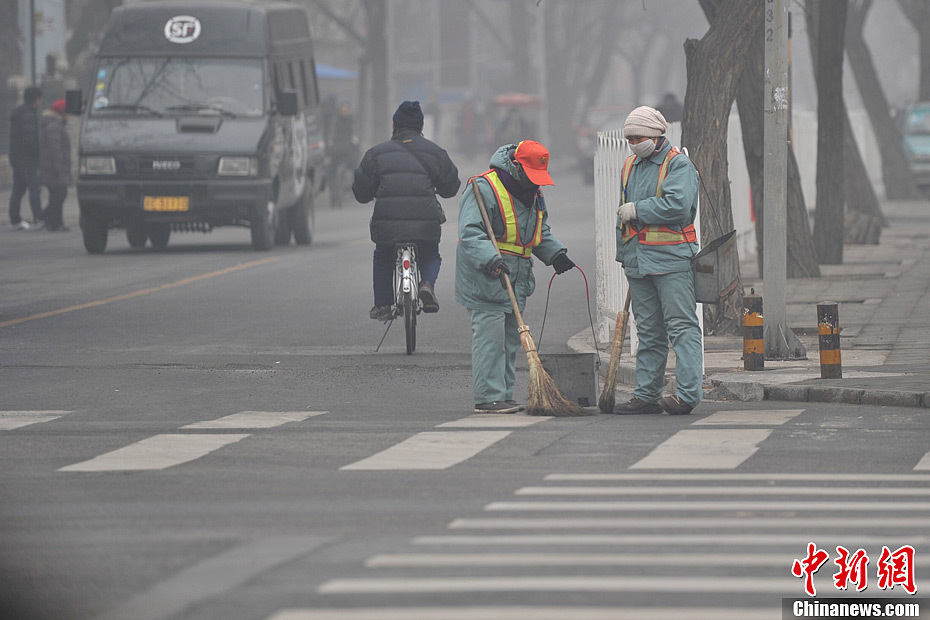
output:
<path id="1" fill-rule="evenodd" d="M 390 140 L 365 153 L 355 169 L 352 193 L 356 200 L 375 200 L 369 228 L 375 242 L 372 288 L 375 305 L 368 316 L 390 320 L 394 304 L 395 246 L 415 243 L 420 267 L 419 297 L 424 312 L 438 312 L 435 285 L 442 257 L 441 225 L 445 221 L 436 194 L 451 198 L 462 182 L 449 154 L 423 137 L 419 101 L 404 101 L 394 112 Z"/>

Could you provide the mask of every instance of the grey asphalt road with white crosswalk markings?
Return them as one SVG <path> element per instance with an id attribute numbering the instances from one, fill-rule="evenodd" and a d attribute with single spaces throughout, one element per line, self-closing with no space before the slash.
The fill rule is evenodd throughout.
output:
<path id="1" fill-rule="evenodd" d="M 591 189 L 556 180 L 593 296 Z M 320 208 L 312 246 L 270 253 L 0 232 L 0 616 L 778 618 L 809 542 L 821 596 L 836 545 L 871 558 L 862 595 L 902 593 L 875 567 L 930 548 L 921 410 L 476 418 L 454 227 L 417 353 L 398 324 L 375 354 L 367 218 Z M 553 289 L 544 352 L 588 322 L 580 276 Z"/>

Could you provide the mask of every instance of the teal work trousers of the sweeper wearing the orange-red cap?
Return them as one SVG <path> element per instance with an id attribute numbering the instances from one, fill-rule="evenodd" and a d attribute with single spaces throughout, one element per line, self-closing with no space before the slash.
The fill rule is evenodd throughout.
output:
<path id="1" fill-rule="evenodd" d="M 513 399 L 516 356 L 522 348 L 516 317 L 503 310 L 469 309 L 468 315 L 475 404 Z"/>

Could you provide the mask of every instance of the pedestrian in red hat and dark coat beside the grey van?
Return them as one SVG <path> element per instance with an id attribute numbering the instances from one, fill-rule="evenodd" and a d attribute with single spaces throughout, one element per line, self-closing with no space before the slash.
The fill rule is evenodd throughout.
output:
<path id="1" fill-rule="evenodd" d="M 39 131 L 39 182 L 48 187 L 42 221 L 49 232 L 67 232 L 61 217 L 71 184 L 71 138 L 65 100 L 58 99 L 42 114 Z"/>

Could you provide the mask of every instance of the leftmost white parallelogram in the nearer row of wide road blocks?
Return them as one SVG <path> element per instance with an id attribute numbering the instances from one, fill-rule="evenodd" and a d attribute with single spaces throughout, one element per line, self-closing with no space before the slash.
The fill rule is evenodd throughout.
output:
<path id="1" fill-rule="evenodd" d="M 165 469 L 205 456 L 249 435 L 155 435 L 58 471 Z"/>

